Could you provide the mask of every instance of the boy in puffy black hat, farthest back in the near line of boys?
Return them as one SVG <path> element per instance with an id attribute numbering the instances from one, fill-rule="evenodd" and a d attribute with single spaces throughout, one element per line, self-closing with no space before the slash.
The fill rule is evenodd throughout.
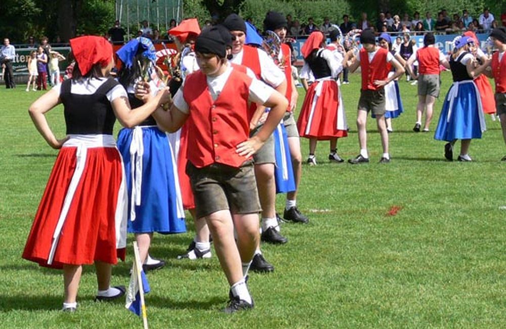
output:
<path id="1" fill-rule="evenodd" d="M 286 26 L 286 18 L 281 13 L 270 11 L 266 14 L 264 19 L 264 30 L 273 31 L 281 40 L 286 37 Z M 279 67 L 284 71 L 286 78 L 285 97 L 289 102 L 289 106 L 286 108 L 286 113 L 283 117 L 283 125 L 288 135 L 288 146 L 290 148 L 293 176 L 296 186 L 295 191 L 286 193 L 283 217 L 294 222 L 305 222 L 304 219 L 307 219 L 306 216 L 302 215 L 297 209 L 297 188 L 299 187 L 302 177 L 302 154 L 299 131 L 297 130 L 297 123 L 293 116 L 293 110 L 297 106 L 299 93 L 297 92 L 297 87 L 295 86 L 291 74 L 291 50 L 287 44 L 281 44 L 281 50 L 277 60 L 282 64 L 280 64 Z M 301 220 L 298 220 L 299 218 Z"/>

